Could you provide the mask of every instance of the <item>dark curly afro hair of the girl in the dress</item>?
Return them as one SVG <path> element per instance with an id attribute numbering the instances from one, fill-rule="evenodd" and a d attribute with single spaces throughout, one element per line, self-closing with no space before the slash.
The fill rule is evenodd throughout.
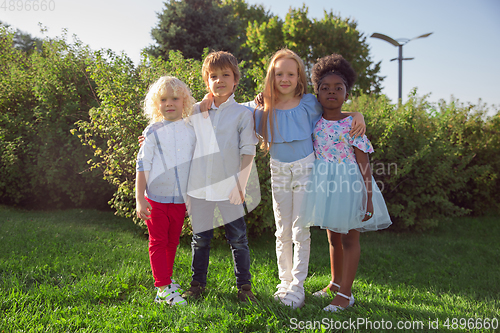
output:
<path id="1" fill-rule="evenodd" d="M 347 91 L 350 91 L 356 81 L 356 72 L 352 69 L 351 64 L 344 59 L 340 54 L 331 54 L 325 56 L 316 62 L 312 69 L 312 83 L 314 93 L 318 94 L 318 88 L 321 80 L 327 75 L 334 73 L 339 75 L 346 84 Z"/>

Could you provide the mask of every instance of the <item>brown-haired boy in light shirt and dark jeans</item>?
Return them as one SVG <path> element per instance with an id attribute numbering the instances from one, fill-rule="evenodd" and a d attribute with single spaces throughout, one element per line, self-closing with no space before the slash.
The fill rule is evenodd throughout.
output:
<path id="1" fill-rule="evenodd" d="M 196 104 L 190 119 L 197 138 L 187 192 L 193 225 L 193 275 L 183 297 L 198 298 L 205 290 L 213 228 L 218 226 L 214 211 L 218 207 L 233 255 L 238 298 L 256 301 L 243 218 L 245 188 L 258 143 L 253 115 L 234 100 L 240 72 L 232 54 L 210 53 L 203 62 L 202 74 L 214 101 L 208 118 L 201 115 Z"/>

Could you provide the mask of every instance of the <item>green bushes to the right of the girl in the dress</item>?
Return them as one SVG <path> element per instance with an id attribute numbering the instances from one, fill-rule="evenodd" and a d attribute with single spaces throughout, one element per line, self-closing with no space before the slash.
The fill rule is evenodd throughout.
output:
<path id="1" fill-rule="evenodd" d="M 400 106 L 364 95 L 349 109 L 365 116 L 375 148 L 372 172 L 395 229 L 425 230 L 449 217 L 480 213 L 483 206 L 498 209 L 490 195 L 498 193 L 499 168 L 491 164 L 499 161 L 493 159 L 498 119 L 486 121 L 482 112 L 456 103 L 441 102 L 436 110 L 416 91 Z M 483 146 L 485 131 L 489 147 Z"/>

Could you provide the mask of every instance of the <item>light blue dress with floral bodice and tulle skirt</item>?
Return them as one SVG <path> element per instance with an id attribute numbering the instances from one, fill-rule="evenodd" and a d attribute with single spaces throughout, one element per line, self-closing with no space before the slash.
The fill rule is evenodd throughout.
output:
<path id="1" fill-rule="evenodd" d="M 321 118 L 316 123 L 313 131 L 316 161 L 307 185 L 300 222 L 304 226 L 319 226 L 346 234 L 352 229 L 375 231 L 392 224 L 373 177 L 373 216 L 362 222 L 367 195 L 354 147 L 365 153 L 373 153 L 373 147 L 366 136 L 353 139 L 349 135 L 351 124 L 351 116 L 338 121 Z"/>

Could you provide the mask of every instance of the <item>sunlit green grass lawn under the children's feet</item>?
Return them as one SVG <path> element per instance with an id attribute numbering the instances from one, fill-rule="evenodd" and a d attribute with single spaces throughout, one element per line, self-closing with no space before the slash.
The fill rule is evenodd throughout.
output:
<path id="1" fill-rule="evenodd" d="M 148 242 L 129 220 L 0 207 L 0 332 L 500 331 L 477 329 L 500 327 L 499 217 L 454 219 L 425 234 L 362 234 L 356 304 L 339 314 L 311 296 L 330 280 L 325 232 L 313 229 L 312 240 L 302 309 L 273 300 L 272 233 L 250 239 L 259 304 L 238 302 L 229 246 L 216 241 L 206 297 L 171 308 L 153 302 Z M 174 267 L 184 288 L 189 242 L 181 240 Z"/>

